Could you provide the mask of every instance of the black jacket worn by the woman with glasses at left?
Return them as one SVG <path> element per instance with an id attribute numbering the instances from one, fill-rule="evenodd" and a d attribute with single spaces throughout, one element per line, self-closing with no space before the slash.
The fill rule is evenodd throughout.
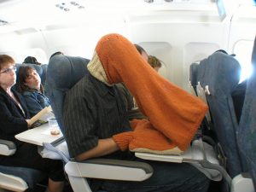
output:
<path id="1" fill-rule="evenodd" d="M 24 98 L 14 89 L 12 91 L 25 114 L 22 113 L 20 107 L 5 90 L 0 87 L 0 139 L 13 141 L 18 147 L 21 142 L 15 139 L 15 135 L 28 129 L 26 119 L 29 119 L 30 116 Z"/>

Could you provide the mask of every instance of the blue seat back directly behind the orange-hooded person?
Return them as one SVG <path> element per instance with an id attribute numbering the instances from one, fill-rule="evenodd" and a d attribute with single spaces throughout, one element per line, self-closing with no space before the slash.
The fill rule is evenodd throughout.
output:
<path id="1" fill-rule="evenodd" d="M 55 55 L 49 60 L 45 90 L 56 120 L 65 136 L 62 122 L 62 106 L 67 90 L 82 79 L 89 60 L 82 57 Z"/>

